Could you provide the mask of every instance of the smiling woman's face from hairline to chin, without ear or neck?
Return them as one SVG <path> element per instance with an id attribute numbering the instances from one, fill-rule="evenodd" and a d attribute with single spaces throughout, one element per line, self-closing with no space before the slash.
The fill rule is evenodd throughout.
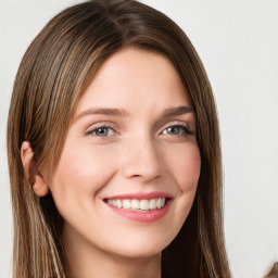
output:
<path id="1" fill-rule="evenodd" d="M 49 180 L 63 236 L 128 257 L 160 253 L 194 199 L 194 134 L 190 100 L 168 59 L 137 49 L 112 55 L 81 97 Z"/>

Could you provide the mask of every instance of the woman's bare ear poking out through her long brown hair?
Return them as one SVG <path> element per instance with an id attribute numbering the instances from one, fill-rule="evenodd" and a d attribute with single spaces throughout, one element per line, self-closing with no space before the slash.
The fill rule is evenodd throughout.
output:
<path id="1" fill-rule="evenodd" d="M 45 197 L 49 193 L 49 187 L 45 182 L 41 173 L 39 172 L 36 161 L 34 159 L 34 152 L 31 150 L 30 143 L 24 141 L 21 148 L 21 157 L 24 168 L 24 175 L 28 182 L 31 185 L 34 192 L 38 197 Z"/>

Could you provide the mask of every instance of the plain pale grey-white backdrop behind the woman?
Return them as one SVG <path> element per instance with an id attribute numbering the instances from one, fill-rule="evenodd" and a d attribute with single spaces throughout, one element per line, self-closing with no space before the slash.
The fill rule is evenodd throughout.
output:
<path id="1" fill-rule="evenodd" d="M 11 277 L 12 214 L 5 126 L 27 46 L 80 1 L 0 1 L 0 277 Z M 148 0 L 191 39 L 214 89 L 224 157 L 225 233 L 235 278 L 278 261 L 278 1 Z"/>

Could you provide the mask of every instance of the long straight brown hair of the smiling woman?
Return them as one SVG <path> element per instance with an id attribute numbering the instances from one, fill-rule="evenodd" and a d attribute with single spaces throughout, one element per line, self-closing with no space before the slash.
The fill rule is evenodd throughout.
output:
<path id="1" fill-rule="evenodd" d="M 204 67 L 185 33 L 132 0 L 91 0 L 53 17 L 26 51 L 8 121 L 14 219 L 13 278 L 65 278 L 62 218 L 51 194 L 38 198 L 24 177 L 21 144 L 53 169 L 76 104 L 98 68 L 122 48 L 159 51 L 175 65 L 197 115 L 201 175 L 190 214 L 162 252 L 163 277 L 229 278 L 223 232 L 217 114 Z"/>

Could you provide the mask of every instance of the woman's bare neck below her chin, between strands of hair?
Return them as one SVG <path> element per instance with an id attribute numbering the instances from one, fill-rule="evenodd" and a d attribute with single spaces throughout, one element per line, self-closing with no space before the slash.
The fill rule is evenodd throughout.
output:
<path id="1" fill-rule="evenodd" d="M 63 235 L 72 278 L 161 278 L 161 255 L 126 257 Z"/>

